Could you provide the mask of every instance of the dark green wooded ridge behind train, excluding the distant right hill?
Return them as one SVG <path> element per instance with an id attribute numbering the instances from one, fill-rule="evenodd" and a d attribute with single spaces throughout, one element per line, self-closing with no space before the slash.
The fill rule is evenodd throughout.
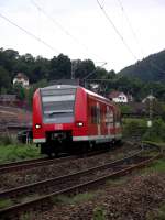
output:
<path id="1" fill-rule="evenodd" d="M 18 73 L 24 73 L 31 85 L 41 80 L 70 79 L 72 65 L 74 66 L 75 77 L 80 79 L 91 72 L 96 72 L 98 77 L 105 77 L 109 74 L 106 69 L 97 68 L 90 59 L 70 61 L 64 54 L 47 59 L 41 56 L 33 57 L 31 54 L 20 55 L 14 50 L 0 48 L 0 89 L 4 89 L 7 92 L 11 91 L 12 79 Z M 92 77 L 96 77 L 96 75 L 92 75 Z"/>

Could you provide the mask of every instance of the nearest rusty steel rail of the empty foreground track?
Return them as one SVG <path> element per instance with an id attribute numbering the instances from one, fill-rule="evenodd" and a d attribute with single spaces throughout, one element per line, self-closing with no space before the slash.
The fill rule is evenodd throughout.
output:
<path id="1" fill-rule="evenodd" d="M 80 193 L 84 189 L 94 188 L 95 186 L 98 186 L 99 184 L 105 184 L 106 180 L 109 178 L 122 176 L 124 174 L 129 174 L 130 172 L 132 172 L 135 168 L 141 168 L 143 166 L 146 166 L 147 164 L 152 163 L 154 160 L 156 160 L 161 156 L 162 156 L 162 154 L 158 153 L 153 157 L 150 157 L 147 160 L 145 158 L 145 161 L 140 162 L 136 165 L 128 165 L 128 167 L 121 168 L 117 172 L 112 172 L 112 173 L 101 176 L 95 180 L 88 180 L 84 184 L 78 184 L 78 185 L 67 187 L 67 188 L 64 188 L 62 190 L 58 190 L 58 191 L 55 191 L 55 193 L 52 193 L 48 195 L 40 196 L 38 198 L 35 198 L 31 201 L 18 204 L 18 205 L 11 206 L 9 208 L 1 209 L 0 217 L 8 217 L 10 219 L 10 216 L 13 218 L 13 215 L 19 215 L 26 210 L 33 210 L 33 208 L 36 209 L 36 207 L 37 208 L 40 207 L 40 209 L 41 209 L 44 204 L 51 205 L 52 204 L 51 199 L 55 196 L 63 195 L 63 194 L 73 194 L 75 191 Z"/>

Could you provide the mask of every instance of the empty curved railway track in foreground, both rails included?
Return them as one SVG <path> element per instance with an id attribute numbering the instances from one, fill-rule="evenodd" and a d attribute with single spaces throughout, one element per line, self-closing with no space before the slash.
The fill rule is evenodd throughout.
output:
<path id="1" fill-rule="evenodd" d="M 0 210 L 1 219 L 15 219 L 23 212 L 41 210 L 45 206 L 52 205 L 52 198 L 63 194 L 80 193 L 100 184 L 105 184 L 108 178 L 125 175 L 135 168 L 147 165 L 162 154 L 157 153 L 155 156 L 146 156 L 143 150 L 138 153 L 96 166 L 89 169 L 84 169 L 74 174 L 46 179 L 35 184 L 16 187 L 0 194 L 1 199 L 10 199 L 11 207 Z M 22 197 L 22 195 L 24 195 Z M 24 197 L 29 200 L 24 202 Z"/>

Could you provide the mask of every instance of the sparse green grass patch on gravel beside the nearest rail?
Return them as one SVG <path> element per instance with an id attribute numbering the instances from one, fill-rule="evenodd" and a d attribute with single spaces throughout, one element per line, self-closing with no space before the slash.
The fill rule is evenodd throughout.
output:
<path id="1" fill-rule="evenodd" d="M 61 205 L 76 205 L 80 202 L 88 201 L 92 199 L 96 196 L 96 193 L 84 193 L 84 194 L 78 194 L 76 196 L 57 196 L 53 198 L 54 204 L 61 204 Z"/>

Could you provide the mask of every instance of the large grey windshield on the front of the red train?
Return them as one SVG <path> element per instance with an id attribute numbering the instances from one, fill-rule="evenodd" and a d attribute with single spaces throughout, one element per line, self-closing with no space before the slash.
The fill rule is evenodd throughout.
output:
<path id="1" fill-rule="evenodd" d="M 44 123 L 74 122 L 76 89 L 41 90 Z"/>

